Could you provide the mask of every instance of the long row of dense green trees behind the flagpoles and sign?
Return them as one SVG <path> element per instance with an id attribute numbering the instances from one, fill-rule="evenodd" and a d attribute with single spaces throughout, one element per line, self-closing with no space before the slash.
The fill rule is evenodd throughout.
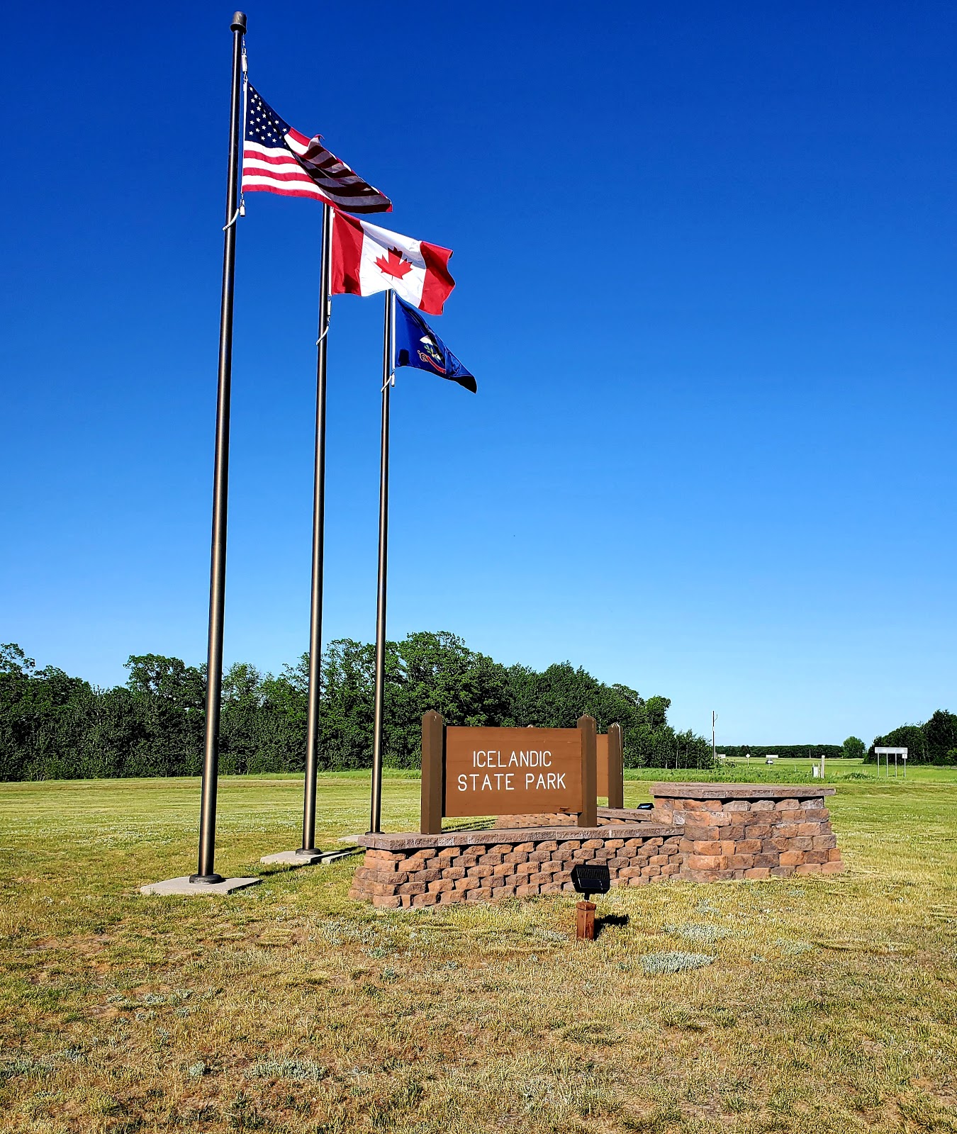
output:
<path id="1" fill-rule="evenodd" d="M 0 646 L 0 780 L 200 773 L 204 666 L 136 654 L 125 685 L 99 688 L 53 666 L 39 669 L 14 643 Z M 375 651 L 340 638 L 322 657 L 319 751 L 330 770 L 369 768 Z M 302 771 L 308 655 L 278 676 L 248 662 L 223 678 L 220 771 Z M 422 714 L 449 725 L 570 728 L 583 713 L 600 731 L 621 725 L 629 768 L 710 768 L 711 746 L 668 723 L 668 697 L 607 685 L 569 662 L 542 671 L 503 666 L 450 633 L 421 632 L 386 649 L 383 760 L 421 762 Z"/>

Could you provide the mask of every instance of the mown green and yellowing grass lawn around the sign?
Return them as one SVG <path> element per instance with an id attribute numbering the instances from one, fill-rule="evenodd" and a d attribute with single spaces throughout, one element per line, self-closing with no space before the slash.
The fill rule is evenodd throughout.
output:
<path id="1" fill-rule="evenodd" d="M 202 899 L 137 894 L 195 869 L 196 780 L 2 784 L 0 1132 L 957 1132 L 957 773 L 827 771 L 845 877 L 612 894 L 592 945 L 567 896 L 378 914 L 354 862 L 261 868 L 294 777 L 221 781 L 217 865 L 264 880 Z M 321 778 L 321 845 L 367 785 Z"/>

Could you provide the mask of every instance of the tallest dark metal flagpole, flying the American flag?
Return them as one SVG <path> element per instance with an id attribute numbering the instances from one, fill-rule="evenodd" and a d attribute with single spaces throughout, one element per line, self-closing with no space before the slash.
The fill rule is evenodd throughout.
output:
<path id="1" fill-rule="evenodd" d="M 210 549 L 210 623 L 206 654 L 206 723 L 203 739 L 203 789 L 200 802 L 200 856 L 190 882 L 221 882 L 215 857 L 215 803 L 219 772 L 219 714 L 222 694 L 222 626 L 226 607 L 226 521 L 229 496 L 229 399 L 232 380 L 232 291 L 236 273 L 236 201 L 239 172 L 243 36 L 246 14 L 237 11 L 232 29 L 232 96 L 229 108 L 229 172 L 226 186 L 226 237 L 219 318 L 213 521 Z"/>

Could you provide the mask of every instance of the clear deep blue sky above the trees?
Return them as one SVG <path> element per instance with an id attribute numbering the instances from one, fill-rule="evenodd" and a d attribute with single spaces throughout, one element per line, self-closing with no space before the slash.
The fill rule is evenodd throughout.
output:
<path id="1" fill-rule="evenodd" d="M 0 640 L 204 659 L 231 9 L 5 16 Z M 248 9 L 251 77 L 455 249 L 400 371 L 390 636 L 721 743 L 957 710 L 957 9 Z M 227 661 L 306 645 L 320 210 L 238 232 Z M 330 339 L 327 637 L 374 632 L 381 298 Z"/>

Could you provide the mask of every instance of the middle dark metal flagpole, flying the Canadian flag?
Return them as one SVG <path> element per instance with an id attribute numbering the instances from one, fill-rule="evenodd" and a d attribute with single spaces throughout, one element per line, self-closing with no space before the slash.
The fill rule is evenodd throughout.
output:
<path id="1" fill-rule="evenodd" d="M 325 367 L 329 345 L 329 274 L 332 269 L 332 210 L 322 206 L 322 279 L 315 358 L 315 457 L 312 497 L 312 598 L 310 601 L 310 688 L 306 710 L 306 772 L 303 788 L 303 845 L 315 855 L 315 788 L 319 771 L 319 702 L 322 686 L 322 576 L 325 543 Z"/>

